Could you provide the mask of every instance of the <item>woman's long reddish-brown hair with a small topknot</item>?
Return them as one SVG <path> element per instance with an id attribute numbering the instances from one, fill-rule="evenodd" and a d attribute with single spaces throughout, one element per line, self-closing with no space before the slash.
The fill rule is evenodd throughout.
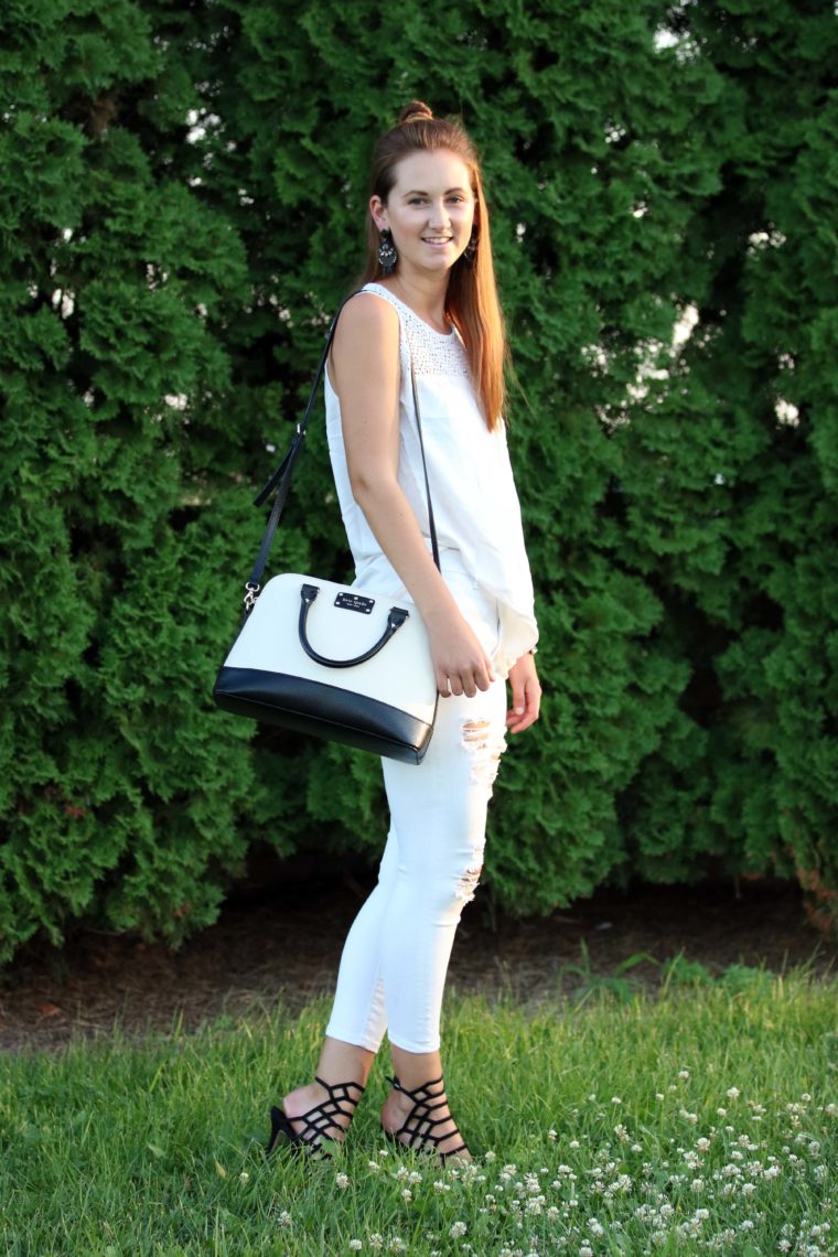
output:
<path id="1" fill-rule="evenodd" d="M 456 153 L 469 168 L 475 197 L 475 236 L 477 251 L 470 266 L 459 258 L 451 268 L 446 294 L 446 316 L 462 337 L 477 398 L 490 430 L 503 421 L 505 397 L 504 367 L 508 361 L 504 316 L 498 299 L 495 268 L 489 235 L 489 211 L 482 190 L 480 160 L 474 143 L 457 121 L 435 118 L 423 101 L 412 101 L 402 109 L 398 123 L 381 137 L 373 150 L 371 196 L 386 205 L 396 184 L 396 166 L 417 151 Z M 379 233 L 372 214 L 367 221 L 367 263 L 362 283 L 379 280 Z"/>

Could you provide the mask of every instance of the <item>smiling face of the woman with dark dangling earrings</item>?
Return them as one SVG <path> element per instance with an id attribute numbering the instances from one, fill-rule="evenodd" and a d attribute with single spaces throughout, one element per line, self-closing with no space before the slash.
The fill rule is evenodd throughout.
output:
<path id="1" fill-rule="evenodd" d="M 471 238 L 475 197 L 469 167 L 447 150 L 410 153 L 396 166 L 396 184 L 383 204 L 369 202 L 378 230 L 388 228 L 401 270 L 447 270 Z"/>

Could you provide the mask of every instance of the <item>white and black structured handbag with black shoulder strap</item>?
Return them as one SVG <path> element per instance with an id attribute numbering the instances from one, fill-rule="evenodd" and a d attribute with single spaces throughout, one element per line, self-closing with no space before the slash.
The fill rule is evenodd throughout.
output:
<path id="1" fill-rule="evenodd" d="M 264 590 L 260 586 L 344 304 L 327 333 L 312 392 L 288 454 L 254 499 L 254 505 L 260 507 L 275 493 L 256 561 L 245 582 L 244 621 L 212 695 L 225 711 L 420 764 L 433 733 L 438 693 L 427 631 L 413 603 L 300 573 L 274 576 Z M 431 548 L 438 568 L 412 363 L 411 385 Z"/>

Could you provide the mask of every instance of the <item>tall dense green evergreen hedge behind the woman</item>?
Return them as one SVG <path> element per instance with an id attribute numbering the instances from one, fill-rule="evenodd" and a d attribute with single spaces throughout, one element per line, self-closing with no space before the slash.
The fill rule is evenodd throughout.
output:
<path id="1" fill-rule="evenodd" d="M 0 958 L 177 941 L 258 840 L 381 847 L 371 757 L 210 689 L 415 96 L 482 151 L 521 386 L 547 695 L 492 894 L 795 872 L 838 919 L 835 35 L 814 0 L 4 6 Z M 322 429 L 286 519 L 276 567 L 348 574 Z"/>

